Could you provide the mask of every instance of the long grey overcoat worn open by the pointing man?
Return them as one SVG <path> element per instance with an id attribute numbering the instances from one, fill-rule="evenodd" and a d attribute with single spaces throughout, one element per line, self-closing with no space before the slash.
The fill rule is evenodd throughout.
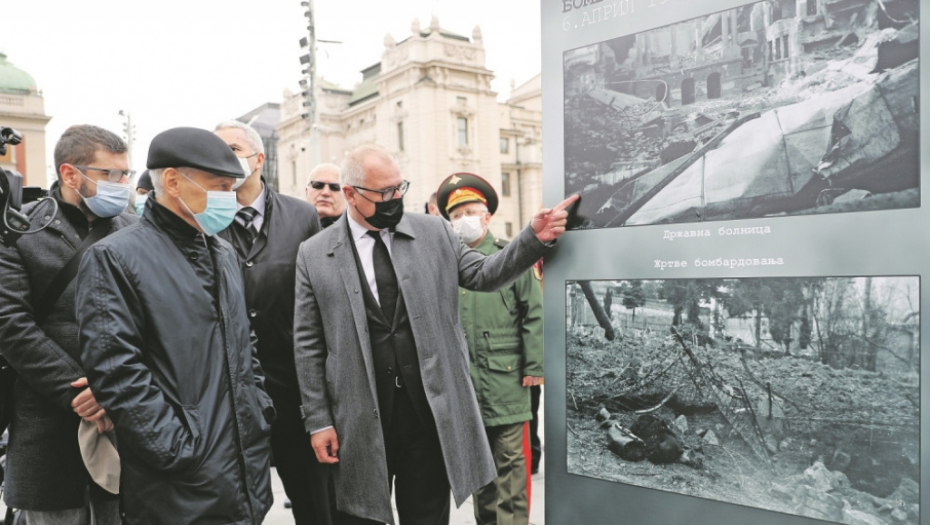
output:
<path id="1" fill-rule="evenodd" d="M 294 353 L 308 432 L 333 425 L 336 503 L 346 513 L 393 523 L 375 372 L 352 239 L 343 216 L 300 246 Z M 406 303 L 426 397 L 456 504 L 495 476 L 459 322 L 459 286 L 502 288 L 547 251 L 529 228 L 492 257 L 468 248 L 446 221 L 406 214 L 392 262 Z"/>

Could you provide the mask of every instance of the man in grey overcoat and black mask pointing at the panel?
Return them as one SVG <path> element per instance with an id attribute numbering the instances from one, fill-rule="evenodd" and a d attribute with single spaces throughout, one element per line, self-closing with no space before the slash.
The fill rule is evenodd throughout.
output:
<path id="1" fill-rule="evenodd" d="M 294 342 L 304 423 L 333 465 L 342 523 L 448 523 L 495 475 L 469 380 L 458 287 L 506 286 L 565 231 L 573 196 L 492 257 L 439 218 L 403 214 L 409 186 L 381 147 L 340 173 L 348 211 L 297 257 Z"/>

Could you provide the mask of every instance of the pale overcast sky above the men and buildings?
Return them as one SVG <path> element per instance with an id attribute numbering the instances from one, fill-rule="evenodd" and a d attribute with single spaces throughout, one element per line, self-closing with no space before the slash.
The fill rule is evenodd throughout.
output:
<path id="1" fill-rule="evenodd" d="M 504 98 L 540 69 L 538 0 L 315 0 L 318 72 L 352 87 L 381 59 L 384 36 L 414 18 L 471 36 L 480 25 L 492 87 Z M 300 0 L 18 0 L 0 5 L 0 50 L 45 97 L 49 163 L 61 133 L 90 123 L 137 130 L 133 168 L 151 138 L 175 126 L 212 129 L 298 89 L 306 36 Z M 3 122 L 0 122 L 2 125 Z"/>

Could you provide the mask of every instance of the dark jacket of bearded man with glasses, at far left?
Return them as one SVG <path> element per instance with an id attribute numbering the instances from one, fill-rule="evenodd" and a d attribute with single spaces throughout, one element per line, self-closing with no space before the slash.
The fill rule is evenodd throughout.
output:
<path id="1" fill-rule="evenodd" d="M 81 419 L 71 409 L 79 392 L 71 382 L 84 376 L 74 317 L 77 279 L 42 322 L 33 314 L 33 304 L 88 233 L 87 219 L 60 200 L 57 183 L 52 194 L 59 200 L 54 215 L 51 202 L 23 207 L 32 229 L 48 227 L 0 247 L 0 353 L 17 372 L 3 499 L 39 511 L 82 507 L 92 483 L 78 448 Z M 114 232 L 139 219 L 123 213 L 98 220 Z"/>

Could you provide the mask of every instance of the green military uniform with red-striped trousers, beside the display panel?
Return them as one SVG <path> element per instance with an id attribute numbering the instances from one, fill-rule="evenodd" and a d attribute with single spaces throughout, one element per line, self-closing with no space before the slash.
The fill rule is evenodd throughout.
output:
<path id="1" fill-rule="evenodd" d="M 479 252 L 505 242 L 488 233 Z M 542 290 L 532 270 L 495 293 L 461 289 L 459 314 L 468 342 L 470 371 L 498 477 L 475 493 L 478 525 L 526 525 L 527 459 L 523 427 L 533 414 L 523 377 L 543 375 Z"/>

